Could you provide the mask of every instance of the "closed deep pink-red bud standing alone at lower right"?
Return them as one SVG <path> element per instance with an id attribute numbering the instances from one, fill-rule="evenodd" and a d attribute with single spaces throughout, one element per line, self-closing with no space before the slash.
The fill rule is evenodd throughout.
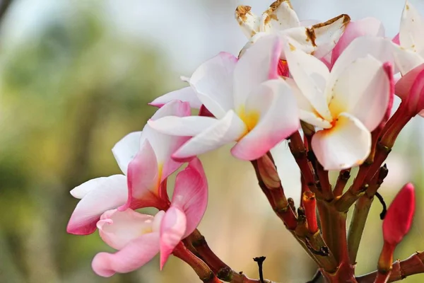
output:
<path id="1" fill-rule="evenodd" d="M 396 246 L 411 229 L 415 212 L 415 190 L 411 183 L 404 185 L 387 209 L 383 221 L 384 242 Z"/>

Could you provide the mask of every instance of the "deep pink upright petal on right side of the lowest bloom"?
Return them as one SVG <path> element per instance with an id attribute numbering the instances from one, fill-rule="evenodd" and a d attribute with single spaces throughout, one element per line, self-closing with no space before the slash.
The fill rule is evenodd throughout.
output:
<path id="1" fill-rule="evenodd" d="M 208 204 L 208 181 L 198 158 L 192 159 L 184 171 L 178 173 L 171 207 L 177 207 L 187 217 L 183 238 L 199 225 Z"/>

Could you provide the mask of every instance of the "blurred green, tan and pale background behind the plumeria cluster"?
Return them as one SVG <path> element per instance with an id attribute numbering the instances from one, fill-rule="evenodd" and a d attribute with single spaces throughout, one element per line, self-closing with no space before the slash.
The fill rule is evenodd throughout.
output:
<path id="1" fill-rule="evenodd" d="M 394 36 L 402 0 L 293 0 L 302 20 L 340 13 L 375 16 Z M 424 3 L 412 1 L 424 14 Z M 69 194 L 90 178 L 119 173 L 112 146 L 142 129 L 155 108 L 146 103 L 181 88 L 180 75 L 220 51 L 245 44 L 233 18 L 237 5 L 256 13 L 271 0 L 1 0 L 0 4 L 0 282 L 199 282 L 171 258 L 105 279 L 90 269 L 93 256 L 111 250 L 97 233 L 73 236 L 66 224 L 77 200 Z M 424 27 L 423 27 L 424 28 Z M 424 249 L 423 119 L 396 142 L 381 193 L 389 203 L 407 181 L 417 185 L 413 228 L 396 250 L 407 258 Z M 273 150 L 289 196 L 299 173 L 283 142 Z M 210 202 L 200 230 L 235 270 L 257 277 L 252 258 L 267 257 L 264 274 L 278 282 L 305 282 L 312 260 L 285 231 L 262 195 L 249 163 L 228 148 L 201 156 Z M 378 202 L 359 251 L 358 274 L 375 270 L 382 246 Z M 405 282 L 423 282 L 424 276 Z"/>

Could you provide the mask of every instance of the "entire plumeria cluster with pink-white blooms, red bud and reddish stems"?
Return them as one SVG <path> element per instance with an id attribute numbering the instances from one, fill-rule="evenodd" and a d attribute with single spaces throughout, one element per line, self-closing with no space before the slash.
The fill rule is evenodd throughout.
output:
<path id="1" fill-rule="evenodd" d="M 112 149 L 123 175 L 89 180 L 71 191 L 81 200 L 67 231 L 86 235 L 98 229 L 118 250 L 95 256 L 98 275 L 135 270 L 157 253 L 162 268 L 173 253 L 204 282 L 259 282 L 208 262 L 216 255 L 196 248 L 204 243 L 196 227 L 208 195 L 197 156 L 234 144 L 231 154 L 252 162 L 271 207 L 325 279 L 356 282 L 355 257 L 367 213 L 364 218 L 355 208 L 347 236 L 346 212 L 355 202 L 358 209 L 367 207 L 379 195 L 387 175 L 382 164 L 396 137 L 423 113 L 424 20 L 406 2 L 399 34 L 391 40 L 375 18 L 302 22 L 288 0 L 274 2 L 261 16 L 239 6 L 235 18 L 248 37 L 238 57 L 219 53 L 183 78 L 189 86 L 150 103 L 159 109 L 143 131 L 128 134 Z M 402 102 L 391 115 L 394 95 Z M 199 109 L 198 115 L 191 115 L 192 109 Z M 285 139 L 302 172 L 299 209 L 285 198 L 269 154 Z M 167 178 L 184 163 L 170 200 Z M 358 175 L 343 193 L 355 166 Z M 328 171 L 340 171 L 334 190 Z M 383 224 L 390 242 L 384 245 L 391 251 L 412 221 L 413 186 L 402 194 L 410 197 L 399 197 L 401 205 L 389 209 Z M 159 212 L 134 210 L 143 207 Z M 384 268 L 379 262 L 376 282 L 388 280 L 390 270 L 390 257 Z"/>

